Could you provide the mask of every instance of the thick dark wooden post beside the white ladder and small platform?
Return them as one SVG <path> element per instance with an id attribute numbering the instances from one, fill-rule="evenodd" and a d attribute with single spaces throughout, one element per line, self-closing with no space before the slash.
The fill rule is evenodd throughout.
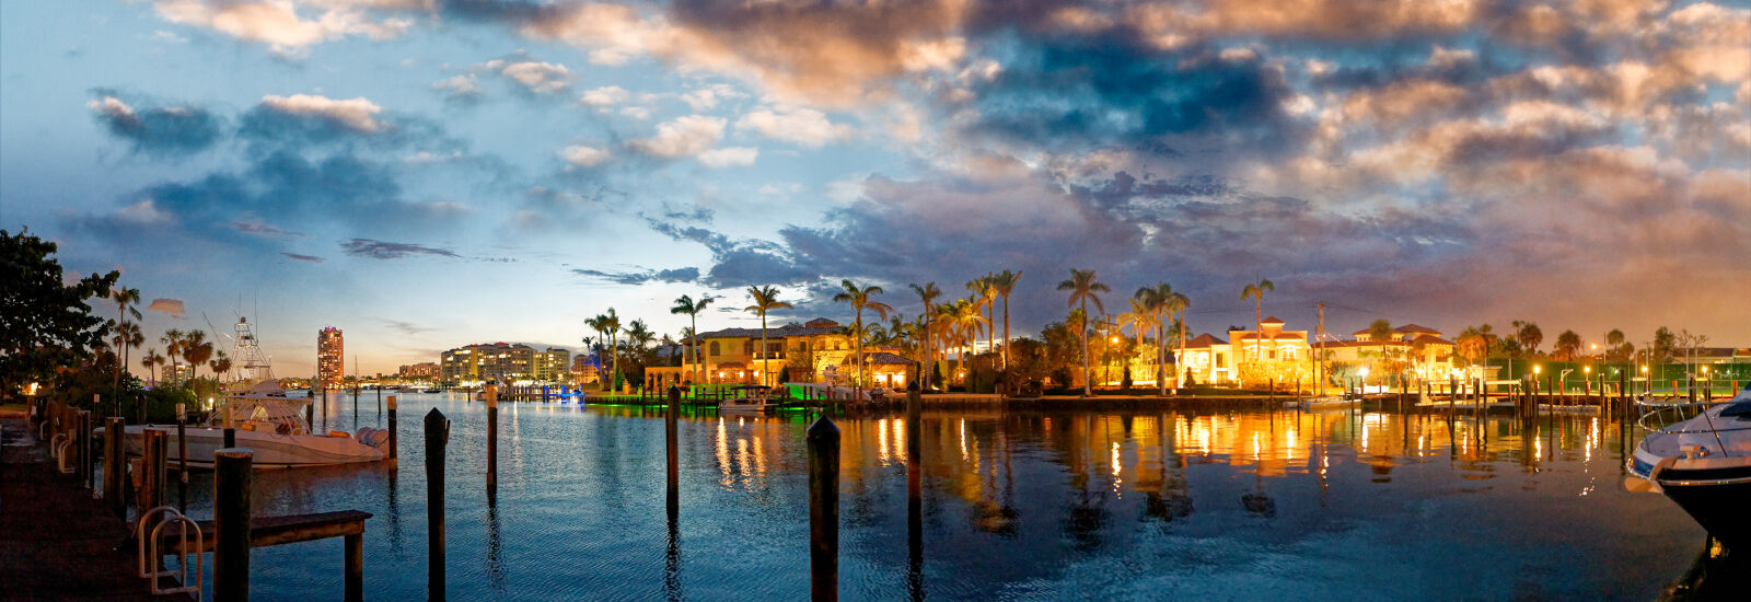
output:
<path id="1" fill-rule="evenodd" d="M 214 452 L 214 600 L 249 600 L 254 453 Z"/>

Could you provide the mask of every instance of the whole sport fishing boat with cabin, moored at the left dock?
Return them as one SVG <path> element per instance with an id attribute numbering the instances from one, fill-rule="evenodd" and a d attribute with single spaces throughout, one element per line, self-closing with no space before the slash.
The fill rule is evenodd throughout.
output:
<path id="1" fill-rule="evenodd" d="M 252 462 L 257 469 L 296 469 L 383 458 L 389 430 L 362 427 L 354 434 L 345 430 L 312 432 L 301 416 L 306 404 L 310 404 L 306 399 L 285 397 L 275 382 L 261 382 L 243 396 L 219 397 L 207 424 L 184 427 L 189 466 L 212 467 L 214 452 L 224 448 L 228 424 L 233 427 L 236 446 L 254 452 Z M 126 427 L 123 443 L 128 455 L 142 455 L 145 430 L 166 432 L 168 462 L 180 462 L 182 446 L 177 444 L 177 425 Z"/>

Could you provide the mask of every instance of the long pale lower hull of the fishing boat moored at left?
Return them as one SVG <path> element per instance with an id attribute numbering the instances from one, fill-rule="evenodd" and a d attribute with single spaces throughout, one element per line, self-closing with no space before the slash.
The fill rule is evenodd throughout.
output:
<path id="1" fill-rule="evenodd" d="M 177 444 L 175 427 L 128 427 L 123 438 L 123 446 L 128 455 L 142 455 L 144 452 L 144 430 L 165 430 L 168 462 L 179 464 L 182 460 L 180 446 Z M 193 427 L 186 429 L 189 466 L 193 467 L 212 467 L 214 452 L 224 448 L 224 429 L 212 427 Z M 383 458 L 383 452 L 354 441 L 352 438 L 326 438 L 315 434 L 271 434 L 259 430 L 235 430 L 238 448 L 249 448 L 254 452 L 250 462 L 257 469 L 296 469 L 296 467 L 315 467 L 315 466 L 336 466 L 336 464 L 357 464 L 357 462 L 376 462 Z"/>

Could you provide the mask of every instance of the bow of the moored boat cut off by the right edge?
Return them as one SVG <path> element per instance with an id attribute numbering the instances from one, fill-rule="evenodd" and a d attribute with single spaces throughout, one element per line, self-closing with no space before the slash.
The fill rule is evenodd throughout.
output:
<path id="1" fill-rule="evenodd" d="M 1751 550 L 1751 383 L 1728 401 L 1665 404 L 1641 418 L 1632 492 L 1660 492 L 1733 550 Z"/>

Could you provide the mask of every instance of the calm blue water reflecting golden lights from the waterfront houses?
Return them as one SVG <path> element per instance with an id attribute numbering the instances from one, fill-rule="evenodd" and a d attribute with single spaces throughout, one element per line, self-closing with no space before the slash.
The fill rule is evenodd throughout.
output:
<path id="1" fill-rule="evenodd" d="M 359 425 L 378 425 L 375 397 L 359 404 Z M 331 427 L 354 427 L 350 397 L 329 408 Z M 424 598 L 431 408 L 454 422 L 450 598 L 807 597 L 800 416 L 681 420 L 672 536 L 655 410 L 506 404 L 489 508 L 485 406 L 461 396 L 401 396 L 399 471 L 257 472 L 257 514 L 373 513 L 366 595 Z M 1646 600 L 1704 541 L 1663 497 L 1623 492 L 1634 443 L 1592 416 L 1522 430 L 1348 411 L 928 411 L 914 548 L 897 418 L 839 420 L 849 600 Z M 194 490 L 208 516 L 210 478 Z M 338 539 L 261 548 L 252 565 L 257 600 L 341 593 Z"/>

